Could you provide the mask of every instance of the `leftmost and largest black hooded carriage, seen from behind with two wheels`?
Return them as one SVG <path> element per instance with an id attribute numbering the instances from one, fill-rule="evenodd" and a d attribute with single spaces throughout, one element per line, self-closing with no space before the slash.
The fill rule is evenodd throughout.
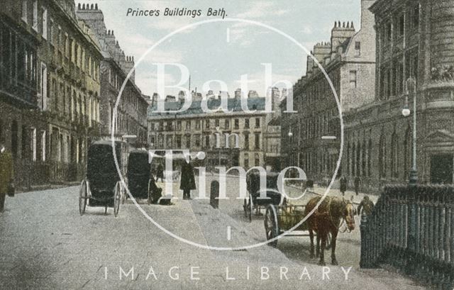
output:
<path id="1" fill-rule="evenodd" d="M 127 144 L 115 141 L 115 154 L 118 168 L 124 173 L 127 158 Z M 87 175 L 82 180 L 79 190 L 79 212 L 85 213 L 86 206 L 114 208 L 114 216 L 118 215 L 123 185 L 114 160 L 112 141 L 96 141 L 89 146 L 87 155 Z"/>

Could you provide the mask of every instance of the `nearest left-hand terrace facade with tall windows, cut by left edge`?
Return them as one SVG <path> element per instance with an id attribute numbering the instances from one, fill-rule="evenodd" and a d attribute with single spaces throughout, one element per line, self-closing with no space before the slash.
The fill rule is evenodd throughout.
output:
<path id="1" fill-rule="evenodd" d="M 101 51 L 74 1 L 6 1 L 1 15 L 1 135 L 16 184 L 75 181 L 99 135 Z"/>

